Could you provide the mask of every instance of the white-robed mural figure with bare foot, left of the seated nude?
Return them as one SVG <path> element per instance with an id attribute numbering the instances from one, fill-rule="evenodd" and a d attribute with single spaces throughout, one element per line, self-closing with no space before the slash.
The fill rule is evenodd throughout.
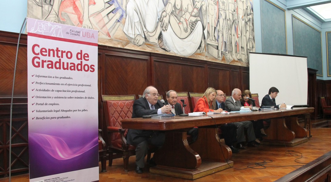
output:
<path id="1" fill-rule="evenodd" d="M 147 32 L 154 32 L 165 4 L 162 0 L 129 0 L 123 31 L 135 45 L 145 42 Z"/>

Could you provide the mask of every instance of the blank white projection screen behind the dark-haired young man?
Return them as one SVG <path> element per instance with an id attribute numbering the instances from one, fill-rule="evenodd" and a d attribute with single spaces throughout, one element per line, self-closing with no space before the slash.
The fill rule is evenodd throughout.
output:
<path id="1" fill-rule="evenodd" d="M 307 105 L 307 57 L 250 53 L 251 93 L 258 93 L 261 103 L 270 87 L 279 90 L 276 104 Z"/>

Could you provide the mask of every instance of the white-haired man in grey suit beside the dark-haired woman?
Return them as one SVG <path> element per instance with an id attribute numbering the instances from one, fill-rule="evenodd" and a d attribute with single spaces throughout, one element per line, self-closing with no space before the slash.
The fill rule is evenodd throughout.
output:
<path id="1" fill-rule="evenodd" d="M 232 96 L 225 100 L 225 110 L 228 112 L 240 111 L 240 108 L 242 107 L 240 103 L 240 98 L 241 98 L 241 90 L 238 88 L 233 89 Z M 245 107 L 250 107 L 250 106 L 245 106 Z M 247 129 L 247 139 L 248 139 L 247 146 L 257 147 L 254 143 L 256 138 L 254 134 L 252 121 L 234 122 L 233 124 L 236 125 L 237 127 L 237 140 L 238 140 L 237 148 L 246 149 L 243 146 L 243 143 L 246 141 L 244 129 Z"/>

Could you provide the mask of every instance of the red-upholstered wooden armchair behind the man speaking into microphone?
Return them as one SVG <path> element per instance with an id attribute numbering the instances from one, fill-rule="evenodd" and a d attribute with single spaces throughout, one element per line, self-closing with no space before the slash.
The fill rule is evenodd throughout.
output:
<path id="1" fill-rule="evenodd" d="M 108 131 L 109 166 L 112 166 L 113 159 L 123 158 L 125 171 L 129 157 L 135 155 L 135 147 L 126 143 L 127 129 L 121 128 L 121 120 L 132 117 L 135 99 L 135 95 L 102 95 Z"/>

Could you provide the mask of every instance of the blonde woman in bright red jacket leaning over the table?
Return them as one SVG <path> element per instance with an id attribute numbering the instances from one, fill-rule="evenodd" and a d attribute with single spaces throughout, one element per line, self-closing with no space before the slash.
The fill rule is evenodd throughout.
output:
<path id="1" fill-rule="evenodd" d="M 206 112 L 209 111 L 220 113 L 223 110 L 221 108 L 214 110 L 215 107 L 215 97 L 216 90 L 212 87 L 207 88 L 206 92 L 195 104 L 195 108 L 193 112 Z"/>

